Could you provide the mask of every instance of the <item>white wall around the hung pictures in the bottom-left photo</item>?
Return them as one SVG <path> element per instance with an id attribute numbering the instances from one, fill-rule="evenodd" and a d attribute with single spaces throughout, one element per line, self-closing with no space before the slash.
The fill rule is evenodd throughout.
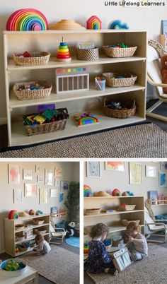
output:
<path id="1" fill-rule="evenodd" d="M 21 183 L 17 185 L 8 184 L 8 164 L 20 165 L 21 169 Z M 8 212 L 15 209 L 19 211 L 42 210 L 44 213 L 50 213 L 50 207 L 57 206 L 57 208 L 65 208 L 64 203 L 59 203 L 57 198 L 50 198 L 48 195 L 47 204 L 39 204 L 39 189 L 40 187 L 54 189 L 54 186 L 45 186 L 45 184 L 38 183 L 38 195 L 35 197 L 24 197 L 24 183 L 28 181 L 23 180 L 23 169 L 33 170 L 35 173 L 35 165 L 40 165 L 40 174 L 45 177 L 45 169 L 54 170 L 55 167 L 62 167 L 62 177 L 56 177 L 59 180 L 76 181 L 79 182 L 79 162 L 0 162 L 0 253 L 4 251 L 4 218 L 8 216 Z M 31 183 L 31 182 L 29 182 Z M 37 183 L 37 174 L 32 183 Z M 13 203 L 13 189 L 23 190 L 23 203 Z M 64 192 L 64 199 L 67 191 Z M 62 218 L 57 218 L 60 222 Z"/>

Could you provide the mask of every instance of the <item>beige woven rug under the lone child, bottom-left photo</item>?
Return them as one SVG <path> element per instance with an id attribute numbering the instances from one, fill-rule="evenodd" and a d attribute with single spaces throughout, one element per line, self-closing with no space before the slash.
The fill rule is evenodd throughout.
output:
<path id="1" fill-rule="evenodd" d="M 21 259 L 54 283 L 79 284 L 79 254 L 54 245 L 48 254 L 37 256 L 30 252 Z"/>

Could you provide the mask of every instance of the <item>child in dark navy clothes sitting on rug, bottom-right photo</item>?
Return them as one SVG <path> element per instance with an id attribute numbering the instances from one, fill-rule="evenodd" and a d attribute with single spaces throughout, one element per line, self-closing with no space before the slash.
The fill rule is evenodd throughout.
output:
<path id="1" fill-rule="evenodd" d="M 108 235 L 108 227 L 103 223 L 98 223 L 91 228 L 92 238 L 89 249 L 88 259 L 84 263 L 84 271 L 90 273 L 110 273 L 117 275 L 117 270 L 113 264 L 112 257 L 108 254 L 103 244 L 103 240 Z"/>

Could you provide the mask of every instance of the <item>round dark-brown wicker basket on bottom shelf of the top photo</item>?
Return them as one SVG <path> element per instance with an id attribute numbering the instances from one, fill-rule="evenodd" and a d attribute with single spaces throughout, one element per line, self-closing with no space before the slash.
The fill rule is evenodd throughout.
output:
<path id="1" fill-rule="evenodd" d="M 125 118 L 128 118 L 128 117 L 132 117 L 135 114 L 135 112 L 136 112 L 135 100 L 134 101 L 132 101 L 132 100 L 124 100 L 124 101 L 121 101 L 121 102 L 126 106 L 125 109 L 123 109 L 123 110 L 112 110 L 112 109 L 106 107 L 106 99 L 105 99 L 104 100 L 105 114 L 108 117 L 122 118 L 122 119 L 125 119 Z"/>

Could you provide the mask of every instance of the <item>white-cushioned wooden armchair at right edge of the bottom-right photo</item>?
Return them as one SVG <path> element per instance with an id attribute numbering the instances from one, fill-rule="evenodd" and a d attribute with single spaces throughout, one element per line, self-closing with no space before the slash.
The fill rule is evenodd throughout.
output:
<path id="1" fill-rule="evenodd" d="M 160 223 L 159 220 L 153 220 L 150 215 L 147 208 L 144 208 L 144 216 L 145 216 L 145 225 L 148 227 L 148 232 L 146 232 L 148 235 L 146 236 L 146 239 L 149 239 L 149 237 L 163 237 L 163 240 L 156 240 L 156 239 L 149 239 L 149 242 L 158 242 L 158 243 L 165 243 L 166 242 L 166 234 L 167 234 L 167 225 L 164 223 Z M 166 221 L 166 220 L 164 220 Z M 156 232 L 164 232 L 164 235 L 156 234 Z"/>

